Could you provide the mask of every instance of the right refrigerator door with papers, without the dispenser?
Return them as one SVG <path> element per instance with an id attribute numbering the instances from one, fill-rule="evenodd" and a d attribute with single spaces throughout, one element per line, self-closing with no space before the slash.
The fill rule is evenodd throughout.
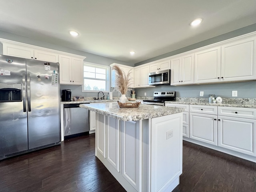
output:
<path id="1" fill-rule="evenodd" d="M 59 63 L 26 60 L 28 94 L 28 148 L 59 142 Z"/>

